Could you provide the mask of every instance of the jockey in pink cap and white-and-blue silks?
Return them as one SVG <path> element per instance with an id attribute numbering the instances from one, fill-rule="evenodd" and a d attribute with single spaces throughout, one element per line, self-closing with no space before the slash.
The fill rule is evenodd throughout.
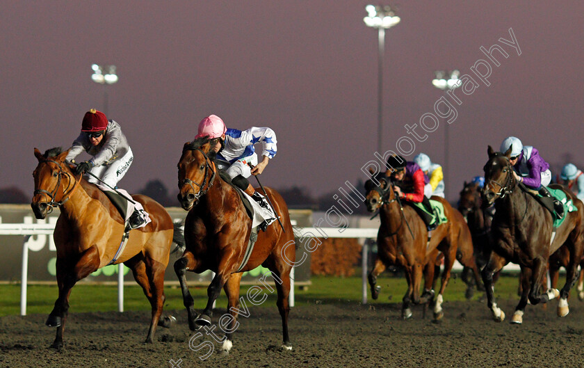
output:
<path id="1" fill-rule="evenodd" d="M 266 198 L 255 191 L 248 177 L 263 173 L 268 161 L 276 155 L 277 139 L 274 131 L 267 127 L 251 127 L 243 131 L 227 129 L 221 118 L 217 115 L 209 115 L 199 123 L 198 134 L 195 138 L 204 136 L 209 136 L 211 140 L 217 139 L 213 147 L 213 150 L 217 152 L 215 161 L 217 168 L 225 170 L 234 185 L 250 195 L 261 207 L 273 213 Z M 260 143 L 262 147 L 260 162 L 254 149 L 256 143 Z"/>

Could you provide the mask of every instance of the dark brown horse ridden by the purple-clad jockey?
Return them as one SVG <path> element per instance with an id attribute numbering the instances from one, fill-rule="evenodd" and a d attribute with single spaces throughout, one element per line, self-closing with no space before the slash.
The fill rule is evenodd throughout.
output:
<path id="1" fill-rule="evenodd" d="M 582 259 L 584 250 L 583 221 L 584 205 L 576 196 L 564 190 L 568 200 L 572 200 L 578 211 L 567 212 L 563 223 L 553 231 L 553 216 L 538 202 L 533 195 L 519 187 L 513 175 L 509 158 L 511 149 L 505 153 L 494 152 L 489 145 L 489 160 L 485 164 L 485 187 L 482 200 L 485 207 L 495 205 L 496 212 L 492 222 L 494 239 L 493 251 L 489 262 L 482 269 L 482 280 L 487 289 L 487 305 L 495 321 L 503 321 L 505 313 L 496 305 L 493 273 L 513 262 L 521 267 L 522 291 L 519 304 L 511 319 L 512 323 L 522 323 L 527 302 L 531 304 L 547 303 L 560 296 L 558 316 L 569 313 L 567 298 L 576 278 L 576 267 Z M 561 186 L 550 186 L 561 189 Z M 542 292 L 542 283 L 546 275 L 546 265 L 550 255 L 565 244 L 569 252 L 566 267 L 566 283 L 562 290 L 549 289 Z"/>

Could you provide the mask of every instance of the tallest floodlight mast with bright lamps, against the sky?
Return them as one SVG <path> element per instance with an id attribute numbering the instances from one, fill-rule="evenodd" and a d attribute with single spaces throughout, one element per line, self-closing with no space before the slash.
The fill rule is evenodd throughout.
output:
<path id="1" fill-rule="evenodd" d="M 378 152 L 382 151 L 383 126 L 383 56 L 385 46 L 385 30 L 400 22 L 395 11 L 389 5 L 368 5 L 365 7 L 367 16 L 363 18 L 366 26 L 378 29 Z"/>

